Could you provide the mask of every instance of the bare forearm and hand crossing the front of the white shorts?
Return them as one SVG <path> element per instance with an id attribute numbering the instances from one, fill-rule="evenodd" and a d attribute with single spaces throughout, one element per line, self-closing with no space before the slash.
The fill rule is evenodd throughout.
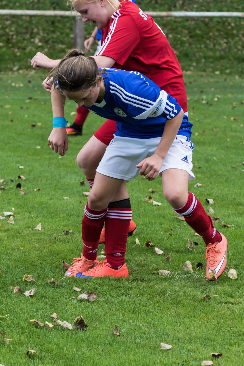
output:
<path id="1" fill-rule="evenodd" d="M 169 148 L 179 131 L 183 116 L 184 112 L 181 109 L 177 116 L 165 122 L 164 132 L 155 153 L 136 165 L 137 168 L 140 168 L 140 175 L 147 175 L 146 179 L 153 180 L 158 175 Z"/>

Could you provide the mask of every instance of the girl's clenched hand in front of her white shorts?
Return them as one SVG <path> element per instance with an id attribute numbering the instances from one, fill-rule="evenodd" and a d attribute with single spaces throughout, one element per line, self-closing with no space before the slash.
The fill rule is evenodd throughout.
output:
<path id="1" fill-rule="evenodd" d="M 139 164 L 136 165 L 136 168 L 140 168 L 140 175 L 146 175 L 145 179 L 153 180 L 158 175 L 163 161 L 164 159 L 161 156 L 153 154 L 152 156 L 143 159 Z"/>

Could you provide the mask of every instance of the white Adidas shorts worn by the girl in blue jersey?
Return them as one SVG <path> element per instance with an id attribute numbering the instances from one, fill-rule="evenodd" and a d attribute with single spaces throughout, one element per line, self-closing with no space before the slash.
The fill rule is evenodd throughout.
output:
<path id="1" fill-rule="evenodd" d="M 139 175 L 136 164 L 154 154 L 161 137 L 139 139 L 114 136 L 98 165 L 97 172 L 109 177 L 130 181 Z M 158 173 L 161 177 L 166 169 L 182 169 L 189 173 L 189 180 L 194 180 L 192 173 L 192 150 L 194 143 L 189 137 L 177 135 L 164 163 Z"/>

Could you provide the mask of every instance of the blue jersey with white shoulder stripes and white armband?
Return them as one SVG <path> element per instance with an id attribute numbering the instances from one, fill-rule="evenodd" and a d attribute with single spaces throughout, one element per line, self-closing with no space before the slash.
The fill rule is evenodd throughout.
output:
<path id="1" fill-rule="evenodd" d="M 88 109 L 107 119 L 116 120 L 115 135 L 154 138 L 163 134 L 165 122 L 175 117 L 181 107 L 146 76 L 137 71 L 106 68 L 104 100 Z M 191 137 L 192 123 L 184 115 L 178 134 Z"/>

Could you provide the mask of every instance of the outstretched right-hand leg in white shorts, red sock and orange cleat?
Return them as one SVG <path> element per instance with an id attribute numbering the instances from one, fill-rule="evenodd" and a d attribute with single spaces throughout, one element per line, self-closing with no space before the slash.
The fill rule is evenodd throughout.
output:
<path id="1" fill-rule="evenodd" d="M 181 140 L 184 141 L 183 138 Z M 173 143 L 173 145 L 170 147 L 169 157 L 165 159 L 165 170 L 162 171 L 164 196 L 175 212 L 184 216 L 185 222 L 202 236 L 206 244 L 207 279 L 213 270 L 219 277 L 226 267 L 228 242 L 221 233 L 216 231 L 211 217 L 207 215 L 200 201 L 194 194 L 188 192 L 188 179 L 195 178 L 191 172 L 191 150 L 186 149 L 184 152 L 183 144 Z M 177 150 L 181 150 L 181 148 L 181 155 L 178 156 Z M 174 155 L 174 160 L 170 158 L 170 154 Z M 180 169 L 172 168 L 177 164 L 179 167 L 182 164 Z"/>

